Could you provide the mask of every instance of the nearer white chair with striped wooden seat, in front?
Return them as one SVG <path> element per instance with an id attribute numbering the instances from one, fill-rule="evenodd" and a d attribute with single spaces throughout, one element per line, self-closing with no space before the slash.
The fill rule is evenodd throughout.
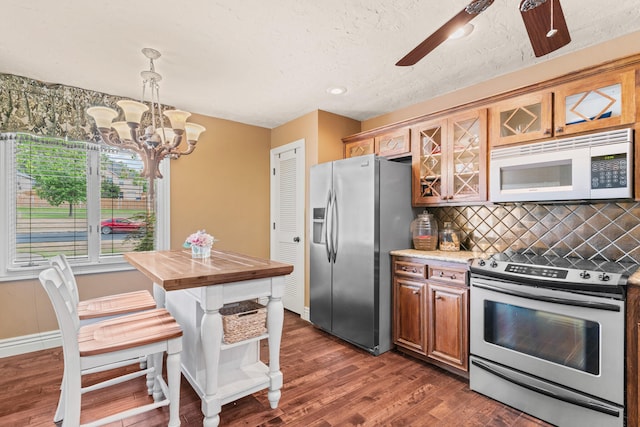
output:
<path id="1" fill-rule="evenodd" d="M 80 426 L 82 394 L 128 381 L 150 373 L 154 379 L 153 402 L 108 415 L 85 426 L 100 426 L 123 418 L 169 406 L 170 427 L 180 425 L 180 352 L 182 329 L 165 309 L 154 309 L 119 316 L 80 326 L 77 305 L 57 267 L 40 273 L 58 319 L 64 352 L 64 375 L 60 397 L 62 426 Z M 162 378 L 162 355 L 167 353 L 168 385 Z M 151 367 L 101 383 L 82 387 L 82 375 L 104 371 L 121 362 L 153 355 Z M 126 363 L 125 363 L 126 364 Z"/>

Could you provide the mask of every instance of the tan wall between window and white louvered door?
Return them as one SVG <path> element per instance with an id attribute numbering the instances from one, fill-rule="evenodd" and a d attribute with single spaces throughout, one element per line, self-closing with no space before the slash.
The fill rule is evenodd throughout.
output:
<path id="1" fill-rule="evenodd" d="M 207 128 L 196 151 L 171 163 L 171 248 L 201 229 L 215 247 L 269 256 L 270 130 L 193 115 Z"/>

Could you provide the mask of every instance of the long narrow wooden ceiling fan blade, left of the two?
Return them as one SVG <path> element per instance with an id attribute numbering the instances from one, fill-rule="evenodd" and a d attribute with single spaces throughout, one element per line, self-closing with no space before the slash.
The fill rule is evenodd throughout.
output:
<path id="1" fill-rule="evenodd" d="M 456 16 L 448 20 L 442 27 L 438 28 L 433 34 L 427 37 L 422 43 L 416 46 L 411 52 L 406 54 L 397 66 L 404 67 L 414 65 L 429 52 L 440 46 L 451 34 L 458 28 L 464 26 L 473 18 L 478 16 L 487 7 L 491 6 L 493 0 L 474 0 L 467 7 L 462 9 Z"/>

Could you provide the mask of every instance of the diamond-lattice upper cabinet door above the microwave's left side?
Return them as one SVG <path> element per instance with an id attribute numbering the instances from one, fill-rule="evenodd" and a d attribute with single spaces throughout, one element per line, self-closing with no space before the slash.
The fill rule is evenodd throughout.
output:
<path id="1" fill-rule="evenodd" d="M 550 138 L 552 129 L 550 91 L 507 99 L 489 109 L 492 147 Z"/>

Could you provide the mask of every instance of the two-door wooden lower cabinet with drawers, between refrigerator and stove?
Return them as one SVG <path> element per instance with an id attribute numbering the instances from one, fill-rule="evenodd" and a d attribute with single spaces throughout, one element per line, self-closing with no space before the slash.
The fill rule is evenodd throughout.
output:
<path id="1" fill-rule="evenodd" d="M 396 348 L 468 377 L 469 288 L 457 263 L 393 257 Z"/>

